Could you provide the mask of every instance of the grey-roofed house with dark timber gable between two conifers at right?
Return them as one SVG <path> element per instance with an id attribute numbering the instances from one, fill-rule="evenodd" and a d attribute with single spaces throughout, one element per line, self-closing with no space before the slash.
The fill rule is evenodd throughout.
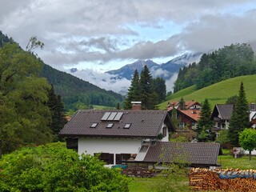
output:
<path id="1" fill-rule="evenodd" d="M 214 121 L 214 130 L 226 130 L 229 128 L 230 118 L 233 112 L 232 104 L 216 104 L 211 114 L 211 119 Z"/>

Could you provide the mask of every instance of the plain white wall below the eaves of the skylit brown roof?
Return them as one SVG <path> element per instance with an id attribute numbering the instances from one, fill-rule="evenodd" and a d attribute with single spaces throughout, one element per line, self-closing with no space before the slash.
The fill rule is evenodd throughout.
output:
<path id="1" fill-rule="evenodd" d="M 138 154 L 141 146 L 139 138 L 78 138 L 78 154 Z"/>

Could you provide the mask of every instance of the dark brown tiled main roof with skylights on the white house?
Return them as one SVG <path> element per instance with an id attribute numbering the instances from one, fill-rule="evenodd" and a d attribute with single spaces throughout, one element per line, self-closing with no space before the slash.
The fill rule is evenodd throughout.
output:
<path id="1" fill-rule="evenodd" d="M 120 115 L 110 120 L 104 118 L 106 113 Z M 165 110 L 78 110 L 59 134 L 67 137 L 157 138 L 164 122 L 170 126 L 170 117 Z M 112 123 L 112 127 L 106 128 Z M 92 128 L 93 124 L 96 127 Z M 130 127 L 124 128 L 127 124 Z"/>

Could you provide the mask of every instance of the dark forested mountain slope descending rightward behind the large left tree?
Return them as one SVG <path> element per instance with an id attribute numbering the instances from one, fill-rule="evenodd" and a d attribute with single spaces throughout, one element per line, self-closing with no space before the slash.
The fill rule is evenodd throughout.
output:
<path id="1" fill-rule="evenodd" d="M 15 42 L 0 30 L 0 48 L 6 43 Z M 62 96 L 66 110 L 78 110 L 90 105 L 116 107 L 118 102 L 121 104 L 124 100 L 121 94 L 102 89 L 71 74 L 56 70 L 46 65 L 40 58 L 37 59 L 42 65 L 40 76 L 46 78 L 54 86 L 55 93 Z M 72 70 L 77 71 L 76 68 Z"/>

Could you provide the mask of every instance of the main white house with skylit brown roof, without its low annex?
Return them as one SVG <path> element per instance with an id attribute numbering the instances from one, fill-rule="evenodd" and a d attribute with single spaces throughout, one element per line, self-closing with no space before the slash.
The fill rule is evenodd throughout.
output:
<path id="1" fill-rule="evenodd" d="M 151 142 L 168 142 L 170 123 L 163 110 L 78 110 L 60 135 L 78 154 L 100 154 L 115 165 L 142 159 Z"/>

